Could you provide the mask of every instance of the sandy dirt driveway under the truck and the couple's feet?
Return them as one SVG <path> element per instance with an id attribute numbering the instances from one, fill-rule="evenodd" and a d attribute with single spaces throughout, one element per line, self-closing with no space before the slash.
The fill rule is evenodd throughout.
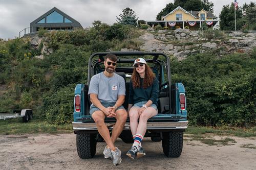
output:
<path id="1" fill-rule="evenodd" d="M 0 169 L 255 169 L 256 149 L 241 146 L 255 146 L 256 138 L 229 138 L 236 143 L 207 145 L 184 140 L 179 158 L 165 157 L 161 142 L 145 138 L 146 156 L 135 160 L 125 155 L 131 144 L 118 139 L 116 145 L 122 151 L 122 162 L 115 167 L 111 160 L 103 158 L 104 142 L 97 143 L 93 159 L 82 160 L 76 152 L 75 134 L 0 135 Z"/>

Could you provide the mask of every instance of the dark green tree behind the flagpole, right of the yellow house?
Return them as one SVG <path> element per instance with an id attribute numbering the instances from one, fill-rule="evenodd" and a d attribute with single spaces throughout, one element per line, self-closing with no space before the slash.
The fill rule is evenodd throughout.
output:
<path id="1" fill-rule="evenodd" d="M 245 24 L 242 19 L 242 10 L 240 8 L 236 11 L 237 30 L 241 29 Z M 224 5 L 220 13 L 220 29 L 234 30 L 234 4 Z"/>

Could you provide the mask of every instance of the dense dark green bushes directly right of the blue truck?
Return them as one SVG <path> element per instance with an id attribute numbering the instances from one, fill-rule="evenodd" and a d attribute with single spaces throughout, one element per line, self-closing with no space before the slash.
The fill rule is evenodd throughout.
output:
<path id="1" fill-rule="evenodd" d="M 188 119 L 195 125 L 251 126 L 256 122 L 256 60 L 212 54 L 172 61 L 173 82 L 186 88 Z"/>

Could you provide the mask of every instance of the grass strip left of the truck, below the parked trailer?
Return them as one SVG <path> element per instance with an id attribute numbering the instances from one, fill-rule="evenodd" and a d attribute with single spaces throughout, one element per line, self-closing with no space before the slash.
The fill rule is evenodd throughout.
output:
<path id="1" fill-rule="evenodd" d="M 31 133 L 72 133 L 72 125 L 52 125 L 40 120 L 23 123 L 22 119 L 0 120 L 0 134 L 31 134 Z"/>

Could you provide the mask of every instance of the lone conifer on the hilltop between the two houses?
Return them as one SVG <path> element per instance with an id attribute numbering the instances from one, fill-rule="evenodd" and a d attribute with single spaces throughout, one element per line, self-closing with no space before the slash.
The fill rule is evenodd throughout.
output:
<path id="1" fill-rule="evenodd" d="M 136 16 L 135 11 L 130 8 L 125 8 L 122 13 L 119 14 L 119 17 L 116 17 L 116 21 L 122 25 L 137 26 L 138 18 L 139 17 Z"/>

